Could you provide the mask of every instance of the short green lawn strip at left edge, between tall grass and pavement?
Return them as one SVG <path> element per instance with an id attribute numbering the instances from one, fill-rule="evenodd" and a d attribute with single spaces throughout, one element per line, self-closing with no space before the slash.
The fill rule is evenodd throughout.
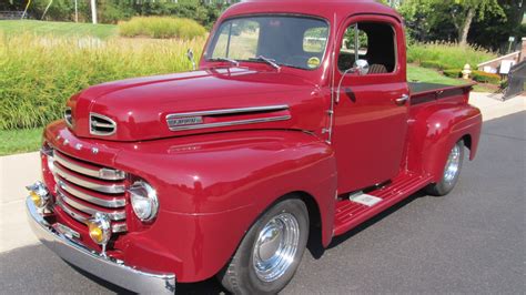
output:
<path id="1" fill-rule="evenodd" d="M 0 130 L 0 155 L 38 151 L 41 136 L 42 129 Z"/>

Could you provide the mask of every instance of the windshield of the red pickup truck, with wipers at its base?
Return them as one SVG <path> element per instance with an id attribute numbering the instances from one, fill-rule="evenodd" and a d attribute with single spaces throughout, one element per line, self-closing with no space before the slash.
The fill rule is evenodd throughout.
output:
<path id="1" fill-rule="evenodd" d="M 328 24 L 307 17 L 264 16 L 224 21 L 205 53 L 209 61 L 269 60 L 306 70 L 320 68 Z"/>

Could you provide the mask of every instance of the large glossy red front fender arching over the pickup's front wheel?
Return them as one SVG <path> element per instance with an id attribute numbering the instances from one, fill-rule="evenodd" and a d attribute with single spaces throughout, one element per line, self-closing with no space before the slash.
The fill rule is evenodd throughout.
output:
<path id="1" fill-rule="evenodd" d="M 172 271 L 180 282 L 216 274 L 257 217 L 291 192 L 313 197 L 323 244 L 332 238 L 334 151 L 314 135 L 241 131 L 142 142 L 124 146 L 115 166 L 158 191 L 159 217 L 129 238 L 154 241 L 149 243 L 176 257 L 179 269 Z"/>

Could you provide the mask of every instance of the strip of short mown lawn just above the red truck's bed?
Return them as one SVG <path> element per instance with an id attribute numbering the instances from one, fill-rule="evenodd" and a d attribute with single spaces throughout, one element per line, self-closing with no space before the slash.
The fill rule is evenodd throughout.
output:
<path id="1" fill-rule="evenodd" d="M 413 64 L 407 65 L 407 81 L 408 82 L 438 83 L 438 84 L 447 84 L 447 85 L 462 85 L 462 84 L 471 83 L 469 81 L 466 81 L 466 80 L 445 77 L 433 69 L 421 68 Z M 490 87 L 486 87 L 484 84 L 478 84 L 474 87 L 473 91 L 495 92 L 495 89 Z"/>

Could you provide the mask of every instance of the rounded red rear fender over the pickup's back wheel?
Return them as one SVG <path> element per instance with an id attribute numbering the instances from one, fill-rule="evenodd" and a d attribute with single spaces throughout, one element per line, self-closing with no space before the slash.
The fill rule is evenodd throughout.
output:
<path id="1" fill-rule="evenodd" d="M 441 181 L 449 151 L 459 140 L 471 150 L 469 160 L 475 159 L 481 128 L 481 111 L 468 104 L 422 109 L 409 129 L 408 169 Z"/>

